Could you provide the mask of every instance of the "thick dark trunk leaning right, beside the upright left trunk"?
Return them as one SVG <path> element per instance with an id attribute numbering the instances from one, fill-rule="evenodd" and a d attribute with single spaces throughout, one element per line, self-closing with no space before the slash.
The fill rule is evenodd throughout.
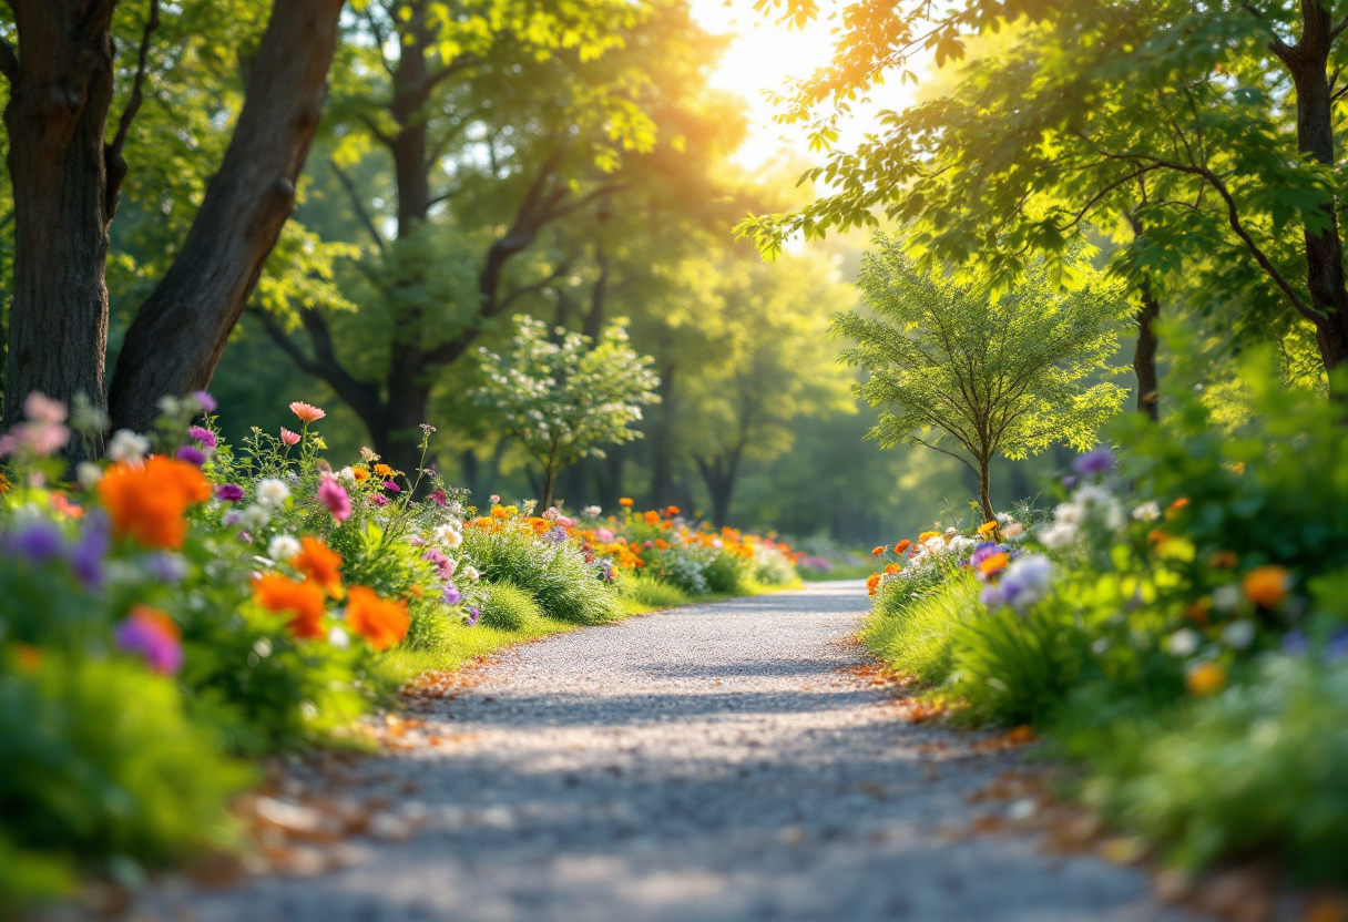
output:
<path id="1" fill-rule="evenodd" d="M 205 388 L 295 204 L 337 47 L 342 0 L 275 0 L 220 171 L 168 274 L 136 314 L 112 381 L 115 426 Z"/>

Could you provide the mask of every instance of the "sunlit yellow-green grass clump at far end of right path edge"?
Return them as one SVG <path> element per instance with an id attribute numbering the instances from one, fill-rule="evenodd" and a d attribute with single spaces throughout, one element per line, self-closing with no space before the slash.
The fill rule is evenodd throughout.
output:
<path id="1" fill-rule="evenodd" d="M 944 682 L 953 667 L 953 631 L 976 605 L 980 584 L 972 573 L 962 573 L 914 598 L 900 582 L 880 586 L 861 639 L 895 671 Z M 906 604 L 898 604 L 899 598 Z"/>

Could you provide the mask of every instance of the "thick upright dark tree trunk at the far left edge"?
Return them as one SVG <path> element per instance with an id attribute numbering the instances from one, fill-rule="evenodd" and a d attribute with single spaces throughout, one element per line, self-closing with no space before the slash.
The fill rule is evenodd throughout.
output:
<path id="1" fill-rule="evenodd" d="M 4 121 L 13 183 L 13 303 L 5 423 L 34 391 L 102 406 L 108 341 L 108 174 L 113 96 L 109 0 L 11 0 Z"/>

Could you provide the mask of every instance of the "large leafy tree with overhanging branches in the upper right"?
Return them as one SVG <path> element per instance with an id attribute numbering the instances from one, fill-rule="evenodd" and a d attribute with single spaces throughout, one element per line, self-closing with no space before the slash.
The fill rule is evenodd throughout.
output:
<path id="1" fill-rule="evenodd" d="M 785 5 L 813 11 L 811 0 Z M 971 39 L 1011 39 L 949 92 L 887 116 L 855 151 L 833 151 L 814 174 L 833 194 L 747 225 L 766 247 L 880 209 L 914 222 L 933 259 L 977 252 L 981 268 L 1014 278 L 1089 222 L 1119 235 L 1119 268 L 1143 299 L 1147 286 L 1153 298 L 1178 286 L 1206 305 L 1239 303 L 1250 328 L 1308 324 L 1325 368 L 1348 357 L 1335 144 L 1348 4 L 961 0 L 860 15 L 865 7 L 848 5 L 834 62 L 789 93 L 787 117 L 813 123 L 824 144 L 853 94 L 886 77 L 917 80 L 918 55 L 940 70 Z"/>

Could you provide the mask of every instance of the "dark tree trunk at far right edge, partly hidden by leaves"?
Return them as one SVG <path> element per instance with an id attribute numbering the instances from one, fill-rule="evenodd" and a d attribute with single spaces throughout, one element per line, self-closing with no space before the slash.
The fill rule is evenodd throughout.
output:
<path id="1" fill-rule="evenodd" d="M 1333 19 L 1324 0 L 1301 0 L 1301 40 L 1282 55 L 1297 88 L 1297 150 L 1332 164 L 1335 121 L 1328 69 Z M 1313 318 L 1316 342 L 1325 368 L 1333 369 L 1348 359 L 1348 290 L 1335 202 L 1326 204 L 1324 213 L 1325 229 L 1305 232 L 1306 287 L 1318 314 Z"/>

